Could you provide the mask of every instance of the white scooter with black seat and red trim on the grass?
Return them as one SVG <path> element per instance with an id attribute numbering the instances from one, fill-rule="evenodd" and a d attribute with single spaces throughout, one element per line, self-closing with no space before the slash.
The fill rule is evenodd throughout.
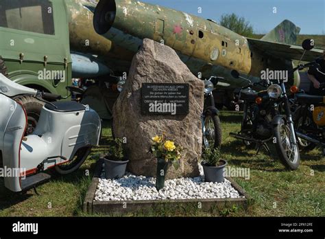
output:
<path id="1" fill-rule="evenodd" d="M 25 135 L 27 115 L 17 95 L 45 102 L 34 132 Z M 0 74 L 0 161 L 4 184 L 13 192 L 25 192 L 50 179 L 43 171 L 74 172 L 99 144 L 101 120 L 88 106 L 60 100 L 53 95 L 23 87 Z M 36 192 L 37 193 L 37 192 Z"/>

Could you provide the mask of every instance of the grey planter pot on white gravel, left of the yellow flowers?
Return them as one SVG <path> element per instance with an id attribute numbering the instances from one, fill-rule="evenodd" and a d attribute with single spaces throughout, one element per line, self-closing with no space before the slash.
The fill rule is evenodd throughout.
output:
<path id="1" fill-rule="evenodd" d="M 104 158 L 106 179 L 120 179 L 124 176 L 129 161 L 112 161 Z"/>

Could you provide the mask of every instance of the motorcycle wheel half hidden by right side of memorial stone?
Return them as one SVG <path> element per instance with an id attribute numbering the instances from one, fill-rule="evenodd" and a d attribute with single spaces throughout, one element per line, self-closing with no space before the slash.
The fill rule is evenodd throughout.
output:
<path id="1" fill-rule="evenodd" d="M 221 146 L 221 124 L 218 115 L 207 115 L 204 119 L 203 144 L 205 148 Z"/>

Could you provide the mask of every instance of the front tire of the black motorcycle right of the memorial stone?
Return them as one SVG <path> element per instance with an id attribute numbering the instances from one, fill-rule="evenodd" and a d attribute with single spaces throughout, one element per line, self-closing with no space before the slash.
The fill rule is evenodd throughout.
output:
<path id="1" fill-rule="evenodd" d="M 287 155 L 287 151 L 285 150 L 285 146 L 282 144 L 282 135 L 281 135 L 281 130 L 286 129 L 289 130 L 289 133 L 291 133 L 289 127 L 285 123 L 284 120 L 280 122 L 280 124 L 277 124 L 274 126 L 274 137 L 276 137 L 276 152 L 278 153 L 278 157 L 282 161 L 283 165 L 288 168 L 289 170 L 296 170 L 298 169 L 300 165 L 300 153 L 299 153 L 299 146 L 296 144 L 296 148 L 293 148 L 292 150 L 295 151 L 295 155 L 293 161 L 291 161 L 289 158 L 291 155 Z M 290 139 L 289 139 L 290 140 Z M 287 138 L 285 139 L 287 142 Z M 286 145 L 287 146 L 287 145 Z"/>

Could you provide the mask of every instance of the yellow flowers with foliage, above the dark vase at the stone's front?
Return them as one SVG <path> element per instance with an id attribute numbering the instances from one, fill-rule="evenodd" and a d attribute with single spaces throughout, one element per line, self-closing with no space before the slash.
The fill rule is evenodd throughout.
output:
<path id="1" fill-rule="evenodd" d="M 152 138 L 152 153 L 157 159 L 165 159 L 166 163 L 172 164 L 178 170 L 180 168 L 180 158 L 182 157 L 182 147 L 177 146 L 173 141 L 165 140 L 165 135 Z"/>

